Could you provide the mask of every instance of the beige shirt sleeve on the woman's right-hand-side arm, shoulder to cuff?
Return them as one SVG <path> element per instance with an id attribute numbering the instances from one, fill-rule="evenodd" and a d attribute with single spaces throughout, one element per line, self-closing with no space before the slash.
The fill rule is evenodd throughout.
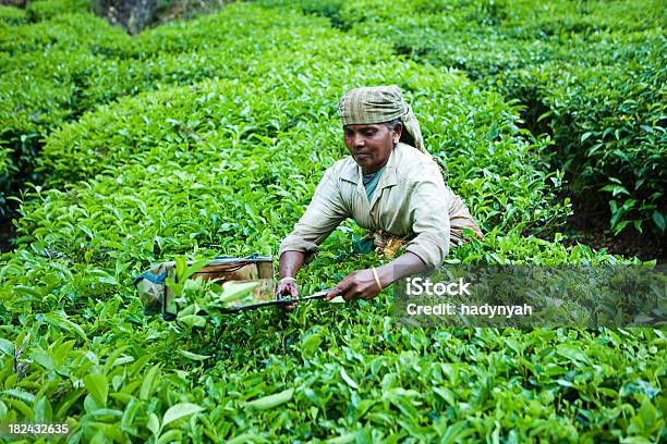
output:
<path id="1" fill-rule="evenodd" d="M 426 173 L 426 174 L 425 174 Z M 420 166 L 410 192 L 409 209 L 415 237 L 405 251 L 420 257 L 433 270 L 449 252 L 449 207 L 451 192 L 445 186 L 437 166 Z"/>

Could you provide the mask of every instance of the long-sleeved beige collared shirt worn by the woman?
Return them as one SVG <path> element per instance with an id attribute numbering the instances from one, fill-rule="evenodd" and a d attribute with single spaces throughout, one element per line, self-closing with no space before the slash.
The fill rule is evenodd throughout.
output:
<path id="1" fill-rule="evenodd" d="M 450 243 L 450 212 L 461 202 L 445 185 L 433 159 L 405 144 L 391 151 L 373 198 L 368 201 L 362 170 L 350 156 L 329 168 L 294 230 L 280 244 L 278 256 L 295 250 L 306 261 L 345 219 L 372 232 L 384 230 L 411 239 L 405 251 L 429 268 L 439 266 Z M 464 206 L 463 206 L 464 207 Z"/>

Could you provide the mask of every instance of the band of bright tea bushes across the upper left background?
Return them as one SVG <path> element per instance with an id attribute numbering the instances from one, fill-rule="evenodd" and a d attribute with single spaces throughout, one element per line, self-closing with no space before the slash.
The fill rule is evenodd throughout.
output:
<path id="1" fill-rule="evenodd" d="M 0 63 L 0 147 L 10 152 L 10 174 L 0 182 L 0 194 L 45 180 L 35 159 L 44 138 L 62 123 L 119 97 L 237 76 L 240 66 L 256 63 L 276 48 L 279 34 L 289 33 L 258 12 L 229 23 L 242 37 L 230 47 L 222 44 L 228 29 L 210 17 L 198 23 L 198 29 L 175 23 L 136 38 L 86 13 L 0 27 L 0 60 L 5 61 Z"/>

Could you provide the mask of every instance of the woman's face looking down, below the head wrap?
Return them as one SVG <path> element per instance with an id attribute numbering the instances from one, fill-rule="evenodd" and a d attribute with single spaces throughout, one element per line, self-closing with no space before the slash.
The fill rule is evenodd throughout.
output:
<path id="1" fill-rule="evenodd" d="M 401 126 L 395 130 L 384 123 L 343 126 L 345 146 L 364 174 L 375 173 L 389 160 L 393 146 L 401 137 Z"/>

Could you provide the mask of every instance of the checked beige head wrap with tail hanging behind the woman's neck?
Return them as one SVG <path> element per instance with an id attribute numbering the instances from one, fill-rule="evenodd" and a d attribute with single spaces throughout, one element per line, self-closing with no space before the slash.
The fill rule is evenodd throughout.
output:
<path id="1" fill-rule="evenodd" d="M 369 125 L 401 118 L 403 131 L 410 133 L 415 148 L 428 153 L 420 123 L 396 85 L 352 89 L 340 99 L 338 110 L 343 125 Z"/>

